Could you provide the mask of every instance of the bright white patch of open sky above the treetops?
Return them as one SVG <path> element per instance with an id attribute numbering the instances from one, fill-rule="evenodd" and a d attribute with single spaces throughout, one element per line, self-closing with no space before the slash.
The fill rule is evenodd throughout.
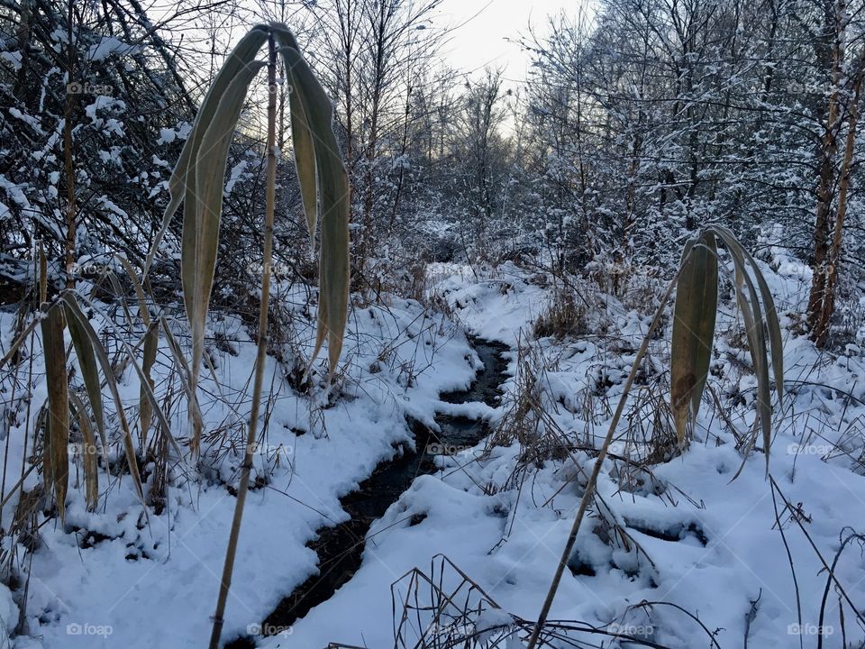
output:
<path id="1" fill-rule="evenodd" d="M 521 81 L 529 64 L 528 53 L 507 39 L 517 41 L 527 35 L 530 21 L 536 32 L 544 33 L 549 14 L 564 11 L 575 16 L 580 5 L 588 4 L 583 0 L 444 0 L 435 26 L 462 26 L 451 32 L 451 41 L 440 52 L 454 68 L 506 67 L 506 78 Z"/>

